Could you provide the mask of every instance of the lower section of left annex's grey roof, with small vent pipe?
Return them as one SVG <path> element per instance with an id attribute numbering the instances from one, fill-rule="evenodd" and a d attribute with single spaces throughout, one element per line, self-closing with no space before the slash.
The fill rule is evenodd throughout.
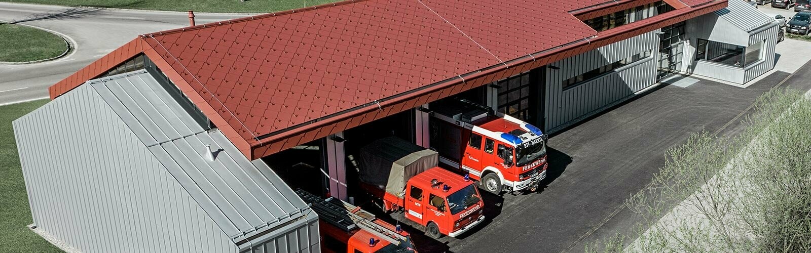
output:
<path id="1" fill-rule="evenodd" d="M 214 161 L 206 160 L 206 145 L 215 151 Z M 221 131 L 149 149 L 235 243 L 304 217 L 308 209 L 267 165 L 248 161 Z"/>

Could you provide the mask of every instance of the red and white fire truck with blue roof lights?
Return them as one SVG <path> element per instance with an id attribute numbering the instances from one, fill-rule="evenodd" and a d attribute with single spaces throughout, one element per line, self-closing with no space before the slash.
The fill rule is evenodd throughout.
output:
<path id="1" fill-rule="evenodd" d="M 547 176 L 547 136 L 535 126 L 464 99 L 431 104 L 431 148 L 485 191 L 535 191 Z"/>

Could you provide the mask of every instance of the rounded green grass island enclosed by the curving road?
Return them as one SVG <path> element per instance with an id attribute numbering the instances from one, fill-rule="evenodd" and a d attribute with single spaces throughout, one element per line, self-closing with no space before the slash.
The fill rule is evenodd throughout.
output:
<path id="1" fill-rule="evenodd" d="M 30 62 L 54 58 L 67 49 L 54 33 L 17 24 L 0 24 L 0 62 Z"/>

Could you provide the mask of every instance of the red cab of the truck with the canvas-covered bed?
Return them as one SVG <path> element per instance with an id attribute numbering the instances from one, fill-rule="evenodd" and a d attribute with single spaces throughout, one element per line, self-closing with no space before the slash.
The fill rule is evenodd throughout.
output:
<path id="1" fill-rule="evenodd" d="M 434 167 L 405 187 L 405 217 L 426 227 L 431 238 L 464 234 L 484 221 L 478 188 L 448 170 Z"/>

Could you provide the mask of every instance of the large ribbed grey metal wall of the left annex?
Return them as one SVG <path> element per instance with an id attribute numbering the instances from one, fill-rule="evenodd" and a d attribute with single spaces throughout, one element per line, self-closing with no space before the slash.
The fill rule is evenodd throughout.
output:
<path id="1" fill-rule="evenodd" d="M 14 128 L 34 224 L 72 247 L 238 251 L 90 85 Z"/>

